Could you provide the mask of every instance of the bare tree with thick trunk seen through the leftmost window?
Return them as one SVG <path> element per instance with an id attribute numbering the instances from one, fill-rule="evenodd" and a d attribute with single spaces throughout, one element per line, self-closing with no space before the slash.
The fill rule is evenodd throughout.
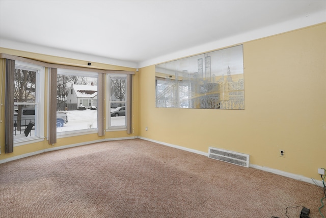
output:
<path id="1" fill-rule="evenodd" d="M 15 102 L 35 102 L 35 83 L 36 83 L 36 72 L 15 69 L 15 80 L 14 80 L 14 98 Z M 17 130 L 20 131 L 21 127 L 21 110 L 24 105 L 18 105 L 17 114 Z"/>

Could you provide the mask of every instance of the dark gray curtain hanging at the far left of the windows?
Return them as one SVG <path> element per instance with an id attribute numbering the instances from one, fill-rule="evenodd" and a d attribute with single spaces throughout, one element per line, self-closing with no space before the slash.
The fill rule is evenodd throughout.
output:
<path id="1" fill-rule="evenodd" d="M 5 153 L 14 152 L 14 78 L 15 61 L 6 59 Z"/>

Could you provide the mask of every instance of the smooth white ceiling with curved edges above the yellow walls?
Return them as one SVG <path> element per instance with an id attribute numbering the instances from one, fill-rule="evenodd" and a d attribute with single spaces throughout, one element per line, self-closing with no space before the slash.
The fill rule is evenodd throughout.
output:
<path id="1" fill-rule="evenodd" d="M 0 47 L 137 68 L 324 21 L 325 0 L 0 0 Z"/>

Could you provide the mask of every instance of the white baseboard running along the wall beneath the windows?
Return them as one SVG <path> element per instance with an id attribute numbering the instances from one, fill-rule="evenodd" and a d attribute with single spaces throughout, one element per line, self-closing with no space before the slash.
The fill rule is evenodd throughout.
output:
<path id="1" fill-rule="evenodd" d="M 9 162 L 9 161 L 13 161 L 13 160 L 18 160 L 18 159 L 25 158 L 25 157 L 30 157 L 30 156 L 37 155 L 37 154 L 42 154 L 44 152 L 57 151 L 57 150 L 61 150 L 61 149 L 68 149 L 68 148 L 77 147 L 77 146 L 86 146 L 87 144 L 92 144 L 92 143 L 96 143 L 96 142 L 116 141 L 116 140 L 135 139 L 135 138 L 138 138 L 138 137 L 137 136 L 132 136 L 132 137 L 123 137 L 123 138 L 106 138 L 106 139 L 100 139 L 100 140 L 94 140 L 94 141 L 86 141 L 86 142 L 81 142 L 81 143 L 68 144 L 67 146 L 51 147 L 51 148 L 43 149 L 43 150 L 36 151 L 36 152 L 31 152 L 31 153 L 26 153 L 26 154 L 17 155 L 17 156 L 14 156 L 14 157 L 6 158 L 6 159 L 3 159 L 3 160 L 0 160 L 0 164 L 6 163 L 6 162 Z"/>

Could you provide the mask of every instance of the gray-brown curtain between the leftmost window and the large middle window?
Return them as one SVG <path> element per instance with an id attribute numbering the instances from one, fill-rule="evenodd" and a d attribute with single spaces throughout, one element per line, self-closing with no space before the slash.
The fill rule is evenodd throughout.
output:
<path id="1" fill-rule="evenodd" d="M 57 143 L 57 68 L 50 68 L 49 144 Z"/>

